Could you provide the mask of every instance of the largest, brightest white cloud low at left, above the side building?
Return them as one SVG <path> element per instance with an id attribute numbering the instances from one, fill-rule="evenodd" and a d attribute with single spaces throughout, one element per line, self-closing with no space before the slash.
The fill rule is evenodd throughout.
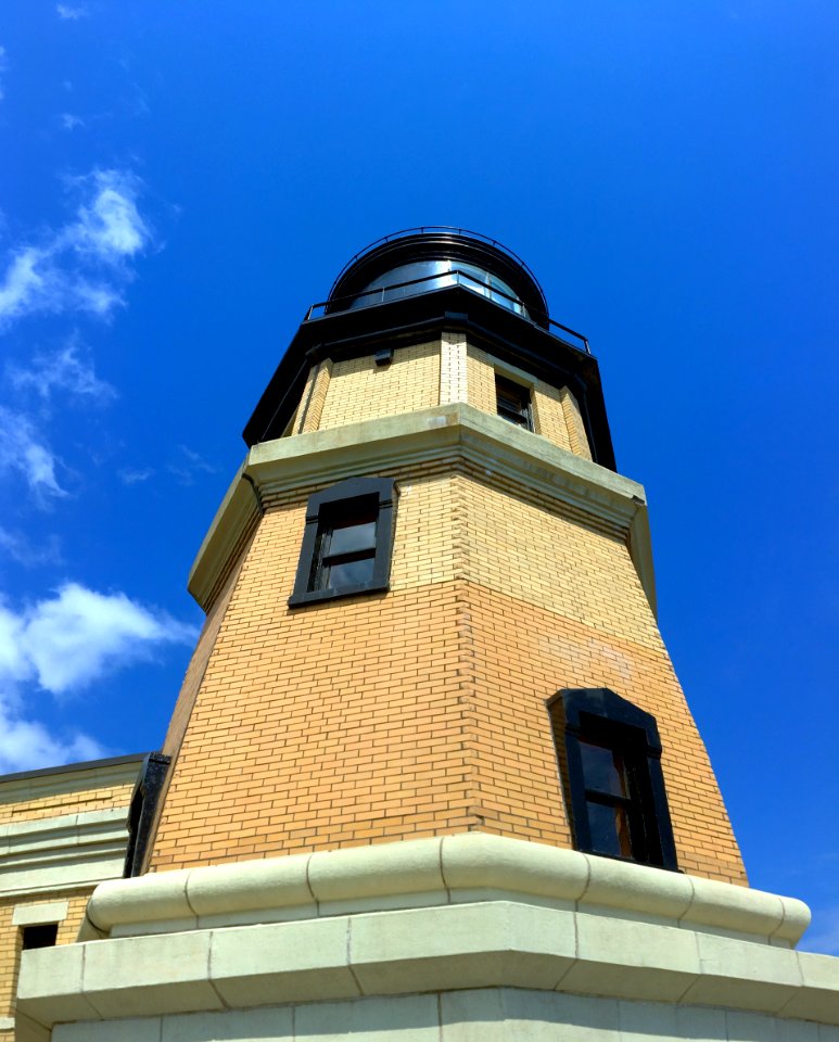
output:
<path id="1" fill-rule="evenodd" d="M 36 682 L 53 695 L 78 691 L 165 645 L 191 644 L 196 636 L 194 626 L 125 594 L 100 594 L 78 583 L 21 611 L 0 602 L 0 772 L 103 754 L 87 735 L 55 735 L 26 719 L 34 698 L 21 697 L 24 685 Z"/>

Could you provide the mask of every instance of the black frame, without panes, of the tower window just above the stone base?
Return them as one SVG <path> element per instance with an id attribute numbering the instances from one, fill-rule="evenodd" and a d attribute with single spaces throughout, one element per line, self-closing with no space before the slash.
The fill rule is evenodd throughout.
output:
<path id="1" fill-rule="evenodd" d="M 563 711 L 561 728 L 557 721 L 558 702 Z M 549 700 L 548 712 L 576 849 L 598 857 L 677 872 L 673 826 L 661 771 L 661 739 L 654 716 L 605 687 L 563 688 Z M 610 800 L 605 792 L 587 784 L 581 742 L 620 752 L 626 764 L 628 797 L 613 796 Z M 592 795 L 601 798 L 593 800 Z M 589 802 L 625 806 L 631 855 L 594 849 Z"/>

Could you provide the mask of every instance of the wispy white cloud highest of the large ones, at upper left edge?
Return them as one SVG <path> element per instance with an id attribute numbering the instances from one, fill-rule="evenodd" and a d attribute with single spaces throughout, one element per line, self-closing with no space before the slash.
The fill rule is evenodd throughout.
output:
<path id="1" fill-rule="evenodd" d="M 72 187 L 75 219 L 13 246 L 0 277 L 0 329 L 27 315 L 86 312 L 107 317 L 123 303 L 128 262 L 151 242 L 137 208 L 141 182 L 126 170 L 93 170 Z"/>

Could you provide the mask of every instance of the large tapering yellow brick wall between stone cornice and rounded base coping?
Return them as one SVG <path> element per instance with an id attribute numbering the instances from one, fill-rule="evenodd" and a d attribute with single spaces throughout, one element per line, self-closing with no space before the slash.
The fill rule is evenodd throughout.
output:
<path id="1" fill-rule="evenodd" d="M 429 466 L 397 474 L 387 594 L 291 610 L 305 491 L 269 505 L 195 700 L 152 864 L 479 828 L 569 846 L 545 707 L 612 687 L 659 721 L 681 866 L 745 882 L 624 544 Z"/>

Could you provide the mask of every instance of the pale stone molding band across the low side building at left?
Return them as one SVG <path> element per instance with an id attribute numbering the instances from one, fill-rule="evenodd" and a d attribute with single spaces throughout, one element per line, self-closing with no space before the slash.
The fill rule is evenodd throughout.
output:
<path id="1" fill-rule="evenodd" d="M 90 887 L 122 876 L 128 809 L 107 808 L 0 825 L 4 897 Z"/>

